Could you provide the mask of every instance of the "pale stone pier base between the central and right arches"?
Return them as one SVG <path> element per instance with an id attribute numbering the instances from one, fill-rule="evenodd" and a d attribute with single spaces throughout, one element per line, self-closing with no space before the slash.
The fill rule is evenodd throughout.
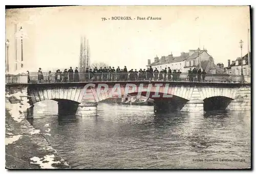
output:
<path id="1" fill-rule="evenodd" d="M 190 100 L 184 103 L 184 106 L 180 110 L 181 112 L 203 112 L 204 101 L 203 100 Z"/>

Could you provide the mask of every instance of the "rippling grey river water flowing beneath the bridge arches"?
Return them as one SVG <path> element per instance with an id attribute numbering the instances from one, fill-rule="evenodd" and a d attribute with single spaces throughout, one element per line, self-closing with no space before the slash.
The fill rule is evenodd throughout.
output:
<path id="1" fill-rule="evenodd" d="M 43 101 L 30 122 L 72 168 L 251 166 L 250 112 L 154 114 L 99 103 L 98 115 L 58 116 L 56 102 Z"/>

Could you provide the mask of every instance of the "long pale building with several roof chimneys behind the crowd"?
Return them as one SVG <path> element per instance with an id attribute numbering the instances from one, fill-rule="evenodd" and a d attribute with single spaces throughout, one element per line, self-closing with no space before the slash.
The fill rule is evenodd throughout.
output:
<path id="1" fill-rule="evenodd" d="M 170 67 L 171 70 L 180 70 L 182 73 L 187 73 L 190 68 L 199 69 L 199 52 L 202 69 L 207 74 L 216 74 L 214 59 L 208 54 L 206 49 L 189 50 L 187 53 L 182 52 L 180 56 L 170 54 L 168 56 L 162 56 L 161 59 L 156 56 L 153 63 L 148 59 L 147 67 L 152 66 L 153 70 L 155 68 L 162 70 Z"/>

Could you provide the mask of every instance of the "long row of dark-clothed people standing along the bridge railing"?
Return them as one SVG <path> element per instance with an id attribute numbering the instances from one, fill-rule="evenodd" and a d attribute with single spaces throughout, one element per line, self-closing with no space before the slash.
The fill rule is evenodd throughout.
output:
<path id="1" fill-rule="evenodd" d="M 94 69 L 86 69 L 85 73 L 78 73 L 78 68 L 75 68 L 73 71 L 72 67 L 69 70 L 65 69 L 63 72 L 60 70 L 56 70 L 56 73 L 52 73 L 51 71 L 48 72 L 47 75 L 42 73 L 41 68 L 39 68 L 37 73 L 37 79 L 39 82 L 46 81 L 46 82 L 79 82 L 79 81 L 137 81 L 137 80 L 159 80 L 159 81 L 181 81 L 188 79 L 189 81 L 202 81 L 205 80 L 206 72 L 205 70 L 201 71 L 200 69 L 197 70 L 194 68 L 193 70 L 189 69 L 188 74 L 184 74 L 181 76 L 182 72 L 180 70 L 171 70 L 169 67 L 163 70 L 158 70 L 150 66 L 150 68 L 140 69 L 137 71 L 136 69 L 131 69 L 127 71 L 126 66 L 123 69 L 118 67 L 115 69 L 114 67 L 109 68 L 102 68 L 99 69 L 95 67 Z M 46 79 L 45 79 L 46 78 Z M 28 72 L 28 82 L 30 82 L 30 75 Z"/>

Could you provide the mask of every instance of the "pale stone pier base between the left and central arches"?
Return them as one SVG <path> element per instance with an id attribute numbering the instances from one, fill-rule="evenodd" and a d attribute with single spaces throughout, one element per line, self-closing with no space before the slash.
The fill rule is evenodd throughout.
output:
<path id="1" fill-rule="evenodd" d="M 97 103 L 80 103 L 77 107 L 77 116 L 97 116 Z"/>

